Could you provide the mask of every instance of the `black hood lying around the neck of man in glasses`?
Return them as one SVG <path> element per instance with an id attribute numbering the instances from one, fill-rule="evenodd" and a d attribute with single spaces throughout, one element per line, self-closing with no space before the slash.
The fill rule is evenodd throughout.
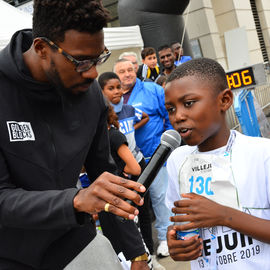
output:
<path id="1" fill-rule="evenodd" d="M 0 76 L 3 74 L 18 86 L 24 85 L 25 94 L 36 100 L 60 101 L 55 88 L 33 79 L 24 63 L 23 53 L 31 47 L 32 41 L 31 29 L 20 30 L 12 36 L 10 43 L 0 51 Z"/>

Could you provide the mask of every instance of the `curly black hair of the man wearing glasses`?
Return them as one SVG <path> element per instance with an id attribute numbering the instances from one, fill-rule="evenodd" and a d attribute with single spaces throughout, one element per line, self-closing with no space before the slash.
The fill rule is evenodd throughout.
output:
<path id="1" fill-rule="evenodd" d="M 108 14 L 99 0 L 35 0 L 33 38 L 64 41 L 72 29 L 95 34 L 107 25 Z"/>

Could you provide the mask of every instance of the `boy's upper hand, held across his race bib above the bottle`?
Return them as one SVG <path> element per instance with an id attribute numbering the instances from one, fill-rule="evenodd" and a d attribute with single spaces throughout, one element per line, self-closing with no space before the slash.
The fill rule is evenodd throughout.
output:
<path id="1" fill-rule="evenodd" d="M 170 219 L 172 222 L 189 221 L 190 223 L 175 225 L 175 229 L 184 231 L 224 224 L 227 207 L 195 193 L 182 194 L 181 196 L 187 200 L 174 202 L 176 207 L 172 208 L 172 212 L 176 215 Z"/>

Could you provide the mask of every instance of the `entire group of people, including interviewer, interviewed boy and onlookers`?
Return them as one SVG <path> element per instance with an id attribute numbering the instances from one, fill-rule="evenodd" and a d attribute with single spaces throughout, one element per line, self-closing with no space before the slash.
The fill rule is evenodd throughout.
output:
<path id="1" fill-rule="evenodd" d="M 100 1 L 35 0 L 0 52 L 0 269 L 269 269 L 269 140 L 228 129 L 224 69 L 173 42 L 98 75 L 107 21 Z M 187 145 L 142 198 L 168 129 Z"/>

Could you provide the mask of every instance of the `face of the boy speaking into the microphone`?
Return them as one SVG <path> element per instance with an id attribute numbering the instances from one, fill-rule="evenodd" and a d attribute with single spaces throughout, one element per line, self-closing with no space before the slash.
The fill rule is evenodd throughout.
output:
<path id="1" fill-rule="evenodd" d="M 226 144 L 225 112 L 232 104 L 229 89 L 217 92 L 210 82 L 186 76 L 166 84 L 165 106 L 173 127 L 188 145 L 210 151 Z"/>

